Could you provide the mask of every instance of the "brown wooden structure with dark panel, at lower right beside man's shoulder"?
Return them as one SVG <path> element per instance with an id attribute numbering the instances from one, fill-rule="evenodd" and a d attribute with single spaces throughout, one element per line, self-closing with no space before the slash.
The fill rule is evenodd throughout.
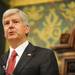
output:
<path id="1" fill-rule="evenodd" d="M 75 75 L 75 49 L 66 44 L 54 47 L 60 75 Z"/>

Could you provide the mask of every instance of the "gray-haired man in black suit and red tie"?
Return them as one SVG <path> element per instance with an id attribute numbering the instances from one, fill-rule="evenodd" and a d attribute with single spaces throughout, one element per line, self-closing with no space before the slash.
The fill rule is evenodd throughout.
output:
<path id="1" fill-rule="evenodd" d="M 30 26 L 24 12 L 17 8 L 8 9 L 3 14 L 2 23 L 9 43 L 9 51 L 0 60 L 6 75 L 59 75 L 53 51 L 33 46 L 27 40 Z M 13 51 L 16 53 L 16 60 L 11 62 L 14 69 L 12 66 L 12 70 L 8 70 Z"/>

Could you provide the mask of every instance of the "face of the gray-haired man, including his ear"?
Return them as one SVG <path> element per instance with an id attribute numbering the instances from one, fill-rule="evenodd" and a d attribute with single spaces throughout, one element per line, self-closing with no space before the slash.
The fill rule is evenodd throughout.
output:
<path id="1" fill-rule="evenodd" d="M 19 14 L 6 16 L 3 23 L 5 38 L 8 40 L 22 40 L 26 38 L 25 34 L 29 32 L 29 27 L 24 25 Z"/>

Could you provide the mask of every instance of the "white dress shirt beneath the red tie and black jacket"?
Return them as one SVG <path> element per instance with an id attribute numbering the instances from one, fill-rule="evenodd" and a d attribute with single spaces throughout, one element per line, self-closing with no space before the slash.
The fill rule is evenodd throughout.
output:
<path id="1" fill-rule="evenodd" d="M 25 41 L 24 43 L 22 43 L 21 45 L 19 45 L 17 48 L 13 49 L 12 47 L 10 47 L 10 53 L 9 53 L 9 57 L 8 57 L 8 60 L 7 60 L 7 65 L 6 65 L 6 68 L 8 66 L 8 61 L 9 61 L 9 58 L 11 57 L 11 54 L 12 54 L 12 51 L 15 50 L 16 53 L 17 53 L 17 56 L 16 56 L 16 63 L 15 63 L 15 67 L 19 61 L 19 59 L 21 58 L 25 48 L 28 46 L 29 42 L 28 41 Z"/>

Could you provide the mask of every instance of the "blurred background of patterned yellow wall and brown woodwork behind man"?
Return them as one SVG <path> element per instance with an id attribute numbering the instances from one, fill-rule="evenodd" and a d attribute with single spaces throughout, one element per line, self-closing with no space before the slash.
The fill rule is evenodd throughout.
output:
<path id="1" fill-rule="evenodd" d="M 60 74 L 72 75 L 67 73 L 69 60 L 65 59 L 72 59 L 72 64 L 75 64 L 75 0 L 0 0 L 0 56 L 8 49 L 1 22 L 2 14 L 14 7 L 23 10 L 29 17 L 29 40 L 34 45 L 53 48 Z M 72 70 L 74 73 L 75 67 Z"/>

